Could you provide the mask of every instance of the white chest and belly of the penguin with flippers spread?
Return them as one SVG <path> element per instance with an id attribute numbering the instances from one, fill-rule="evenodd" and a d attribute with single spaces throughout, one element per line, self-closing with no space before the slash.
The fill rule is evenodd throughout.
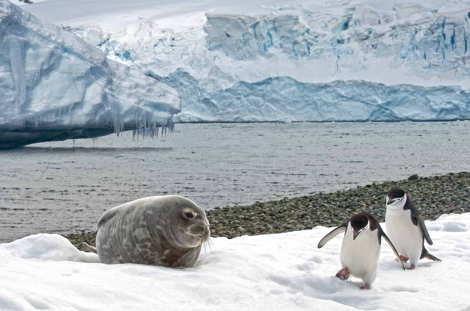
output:
<path id="1" fill-rule="evenodd" d="M 380 244 L 377 230 L 366 229 L 356 240 L 352 239 L 352 229 L 348 226 L 341 245 L 340 262 L 349 273 L 371 284 L 377 274 L 380 257 Z"/>

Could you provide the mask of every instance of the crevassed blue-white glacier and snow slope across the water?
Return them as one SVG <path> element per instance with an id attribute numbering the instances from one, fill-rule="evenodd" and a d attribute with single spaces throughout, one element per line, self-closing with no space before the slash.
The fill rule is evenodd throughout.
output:
<path id="1" fill-rule="evenodd" d="M 177 89 L 180 122 L 470 118 L 468 0 L 48 0 L 27 9 Z"/>

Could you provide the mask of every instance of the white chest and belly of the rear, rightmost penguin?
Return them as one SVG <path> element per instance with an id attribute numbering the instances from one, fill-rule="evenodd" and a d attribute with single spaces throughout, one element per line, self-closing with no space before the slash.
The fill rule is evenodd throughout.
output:
<path id="1" fill-rule="evenodd" d="M 411 222 L 411 210 L 393 210 L 387 207 L 385 213 L 387 236 L 400 255 L 415 257 L 423 248 L 423 233 Z"/>

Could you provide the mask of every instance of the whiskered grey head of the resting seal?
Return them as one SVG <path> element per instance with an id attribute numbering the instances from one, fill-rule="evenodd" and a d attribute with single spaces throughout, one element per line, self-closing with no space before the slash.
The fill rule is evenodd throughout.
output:
<path id="1" fill-rule="evenodd" d="M 211 236 L 205 211 L 191 200 L 179 195 L 166 195 L 164 235 L 175 247 L 191 249 Z"/>

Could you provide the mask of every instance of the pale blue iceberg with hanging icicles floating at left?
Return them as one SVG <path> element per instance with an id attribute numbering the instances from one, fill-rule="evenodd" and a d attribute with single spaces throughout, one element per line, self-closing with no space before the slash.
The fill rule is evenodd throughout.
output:
<path id="1" fill-rule="evenodd" d="M 7 0 L 0 21 L 0 148 L 172 131 L 176 90 Z"/>

